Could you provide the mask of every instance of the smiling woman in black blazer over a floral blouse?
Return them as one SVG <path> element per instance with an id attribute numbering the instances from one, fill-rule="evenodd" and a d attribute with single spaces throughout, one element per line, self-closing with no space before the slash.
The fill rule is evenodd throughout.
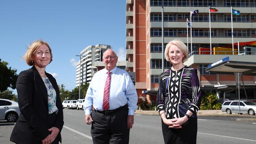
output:
<path id="1" fill-rule="evenodd" d="M 52 50 L 46 42 L 34 41 L 23 59 L 32 68 L 20 72 L 17 80 L 20 116 L 10 140 L 16 144 L 58 144 L 63 108 L 56 79 L 45 72 Z"/>

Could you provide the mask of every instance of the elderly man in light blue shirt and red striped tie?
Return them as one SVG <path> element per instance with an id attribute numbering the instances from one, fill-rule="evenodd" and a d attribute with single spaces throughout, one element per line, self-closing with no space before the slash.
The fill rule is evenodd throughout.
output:
<path id="1" fill-rule="evenodd" d="M 116 67 L 117 60 L 113 50 L 104 52 L 105 68 L 93 76 L 85 96 L 85 122 L 92 124 L 94 144 L 129 143 L 138 98 L 129 74 Z"/>

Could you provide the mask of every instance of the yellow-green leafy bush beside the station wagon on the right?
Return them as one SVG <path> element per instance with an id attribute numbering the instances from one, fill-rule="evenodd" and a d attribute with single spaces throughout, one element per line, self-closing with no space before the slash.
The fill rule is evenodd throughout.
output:
<path id="1" fill-rule="evenodd" d="M 200 109 L 221 109 L 221 103 L 218 101 L 216 94 L 210 92 L 203 95 Z"/>

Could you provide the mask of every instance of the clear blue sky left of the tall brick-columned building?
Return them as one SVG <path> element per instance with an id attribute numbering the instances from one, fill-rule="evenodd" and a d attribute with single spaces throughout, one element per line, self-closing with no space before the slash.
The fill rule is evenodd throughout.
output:
<path id="1" fill-rule="evenodd" d="M 21 60 L 28 44 L 43 39 L 53 53 L 46 72 L 69 90 L 76 85 L 75 55 L 88 45 L 108 44 L 125 60 L 125 32 L 126 0 L 0 1 L 0 59 L 19 74 L 30 68 Z"/>

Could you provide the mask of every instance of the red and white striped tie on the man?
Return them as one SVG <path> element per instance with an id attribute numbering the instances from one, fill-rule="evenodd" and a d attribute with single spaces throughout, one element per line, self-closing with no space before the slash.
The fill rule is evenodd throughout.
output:
<path id="1" fill-rule="evenodd" d="M 107 111 L 109 109 L 109 87 L 110 87 L 110 79 L 111 79 L 111 72 L 107 72 L 108 77 L 106 79 L 105 87 L 104 87 L 104 94 L 103 94 L 103 110 Z"/>

